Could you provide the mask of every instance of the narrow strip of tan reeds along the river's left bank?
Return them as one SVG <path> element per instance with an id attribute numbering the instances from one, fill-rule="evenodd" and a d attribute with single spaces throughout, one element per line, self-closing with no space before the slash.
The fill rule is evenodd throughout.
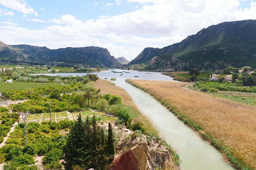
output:
<path id="1" fill-rule="evenodd" d="M 144 114 L 140 113 L 139 109 L 132 101 L 130 95 L 124 89 L 122 89 L 121 87 L 117 87 L 114 83 L 111 83 L 111 82 L 109 82 L 107 80 L 103 80 L 103 79 L 99 79 L 95 82 L 95 88 L 101 89 L 100 93 L 103 95 L 106 93 L 110 93 L 112 95 L 115 94 L 115 95 L 121 96 L 122 104 L 136 110 L 140 121 L 145 123 L 144 128 L 145 128 L 146 133 L 147 134 L 152 133 L 153 135 L 159 134 L 159 130 L 155 127 L 155 125 L 153 125 L 152 121 L 148 117 L 146 117 Z"/>

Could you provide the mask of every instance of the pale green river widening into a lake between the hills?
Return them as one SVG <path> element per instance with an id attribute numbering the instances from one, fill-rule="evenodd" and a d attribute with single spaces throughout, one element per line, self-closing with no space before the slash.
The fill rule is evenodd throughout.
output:
<path id="1" fill-rule="evenodd" d="M 113 73 L 111 71 L 121 72 Z M 129 72 L 129 73 L 125 73 Z M 123 73 L 123 74 L 122 74 Z M 86 73 L 54 73 L 46 75 L 85 75 Z M 150 94 L 125 82 L 125 79 L 173 81 L 172 77 L 160 72 L 137 72 L 131 70 L 107 70 L 97 74 L 101 79 L 114 77 L 111 81 L 129 93 L 140 111 L 160 129 L 160 137 L 175 149 L 181 159 L 180 168 L 183 170 L 234 170 L 225 163 L 222 154 L 204 141 L 195 131 L 186 126 L 174 114 L 160 104 Z M 122 75 L 122 76 L 120 76 Z M 139 76 L 139 77 L 134 77 Z"/>

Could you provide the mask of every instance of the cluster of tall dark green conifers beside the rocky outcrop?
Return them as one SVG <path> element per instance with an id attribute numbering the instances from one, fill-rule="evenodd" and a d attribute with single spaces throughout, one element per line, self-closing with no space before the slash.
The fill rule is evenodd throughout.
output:
<path id="1" fill-rule="evenodd" d="M 113 161 L 114 152 L 111 126 L 109 132 L 106 142 L 103 128 L 98 126 L 95 116 L 91 120 L 87 117 L 83 122 L 79 114 L 63 148 L 65 168 L 71 169 L 79 165 L 85 169 L 106 169 Z M 112 139 L 112 143 L 109 138 Z"/>

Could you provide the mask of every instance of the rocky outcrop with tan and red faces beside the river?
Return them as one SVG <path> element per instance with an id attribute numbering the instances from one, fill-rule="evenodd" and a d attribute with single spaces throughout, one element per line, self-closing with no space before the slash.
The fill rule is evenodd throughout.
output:
<path id="1" fill-rule="evenodd" d="M 148 145 L 144 138 L 137 137 L 128 141 L 125 148 L 130 149 L 115 157 L 110 170 L 152 170 L 162 167 L 166 161 L 171 161 L 169 150 L 163 146 L 159 148 Z"/>

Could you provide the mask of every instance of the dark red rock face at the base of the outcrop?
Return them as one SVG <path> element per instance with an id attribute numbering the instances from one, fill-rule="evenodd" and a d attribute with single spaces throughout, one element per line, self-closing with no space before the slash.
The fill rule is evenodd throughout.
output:
<path id="1" fill-rule="evenodd" d="M 139 170 L 139 161 L 131 150 L 116 159 L 110 170 Z"/>

